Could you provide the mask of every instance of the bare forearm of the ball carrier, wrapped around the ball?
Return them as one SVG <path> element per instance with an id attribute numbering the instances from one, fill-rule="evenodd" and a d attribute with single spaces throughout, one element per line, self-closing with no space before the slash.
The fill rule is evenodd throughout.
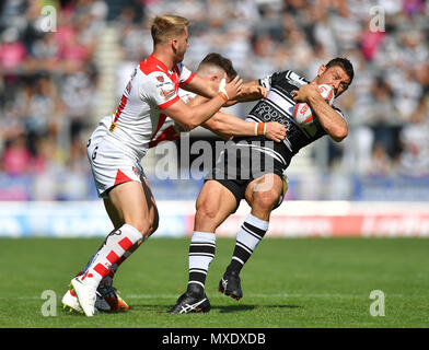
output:
<path id="1" fill-rule="evenodd" d="M 309 96 L 308 103 L 317 117 L 318 122 L 331 138 L 339 142 L 348 133 L 347 122 L 331 107 L 320 94 Z"/>

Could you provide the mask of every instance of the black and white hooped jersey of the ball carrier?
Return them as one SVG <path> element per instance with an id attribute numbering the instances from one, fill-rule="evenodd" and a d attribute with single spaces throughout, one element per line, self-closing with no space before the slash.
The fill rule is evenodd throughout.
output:
<path id="1" fill-rule="evenodd" d="M 293 118 L 292 91 L 310 83 L 303 77 L 291 70 L 276 72 L 259 80 L 259 84 L 268 91 L 266 100 L 260 100 L 251 110 L 246 120 L 255 122 L 277 121 L 286 126 L 286 138 L 282 142 L 275 142 L 274 153 L 276 159 L 282 160 L 285 167 L 289 165 L 290 159 L 300 149 L 320 139 L 326 131 L 315 118 L 311 125 L 298 125 Z M 333 108 L 344 118 L 339 108 Z M 260 150 L 263 151 L 263 150 Z"/>

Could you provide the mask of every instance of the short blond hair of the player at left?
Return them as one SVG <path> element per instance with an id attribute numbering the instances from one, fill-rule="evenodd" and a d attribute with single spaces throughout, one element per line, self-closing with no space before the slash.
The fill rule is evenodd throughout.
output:
<path id="1" fill-rule="evenodd" d="M 189 21 L 179 15 L 158 15 L 152 23 L 151 34 L 153 44 L 160 44 L 182 35 Z"/>

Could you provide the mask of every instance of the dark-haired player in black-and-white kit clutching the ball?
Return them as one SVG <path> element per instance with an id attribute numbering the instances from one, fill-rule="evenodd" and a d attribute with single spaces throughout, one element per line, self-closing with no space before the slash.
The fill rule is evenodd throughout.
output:
<path id="1" fill-rule="evenodd" d="M 219 282 L 221 293 L 236 300 L 243 296 L 240 272 L 267 232 L 271 211 L 283 199 L 287 190 L 283 172 L 291 159 L 301 148 L 325 135 L 339 142 L 348 133 L 341 112 L 328 105 L 318 93 L 317 85 L 328 84 L 338 97 L 348 89 L 353 75 L 348 59 L 335 58 L 326 66 L 322 65 L 317 77 L 311 82 L 290 70 L 259 80 L 259 84 L 268 90 L 268 96 L 256 104 L 246 120 L 278 121 L 287 127 L 286 138 L 282 142 L 274 142 L 274 148 L 270 148 L 264 136 L 235 137 L 234 147 L 225 150 L 223 158 L 207 176 L 196 205 L 194 233 L 188 250 L 187 289 L 169 313 L 210 311 L 205 283 L 215 257 L 215 232 L 245 199 L 252 210 L 239 229 L 231 262 Z M 310 126 L 298 125 L 293 119 L 293 108 L 299 102 L 308 103 L 315 115 Z M 247 153 L 244 152 L 246 150 Z M 265 160 L 270 160 L 267 162 L 269 166 L 262 161 L 260 154 L 264 154 Z M 260 166 L 254 166 L 255 163 Z M 243 164 L 246 172 L 243 171 Z"/>

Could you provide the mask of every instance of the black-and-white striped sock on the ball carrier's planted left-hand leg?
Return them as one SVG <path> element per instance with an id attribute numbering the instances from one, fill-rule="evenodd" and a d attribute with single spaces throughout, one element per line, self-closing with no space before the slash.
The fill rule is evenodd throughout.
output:
<path id="1" fill-rule="evenodd" d="M 215 258 L 216 234 L 210 232 L 194 231 L 189 245 L 189 281 L 205 289 L 207 271 Z"/>

